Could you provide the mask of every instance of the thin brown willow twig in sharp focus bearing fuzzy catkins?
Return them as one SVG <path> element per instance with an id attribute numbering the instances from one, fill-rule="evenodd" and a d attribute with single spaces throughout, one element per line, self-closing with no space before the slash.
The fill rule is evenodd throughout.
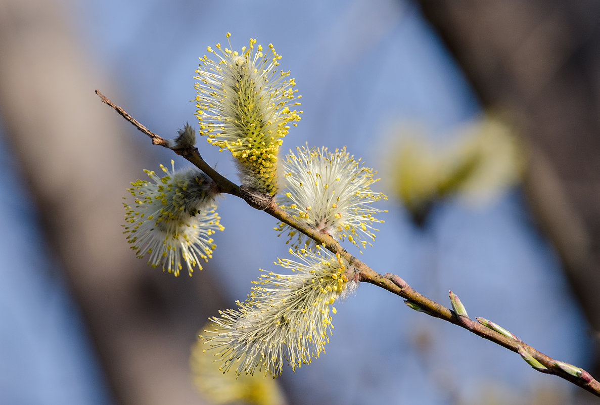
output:
<path id="1" fill-rule="evenodd" d="M 96 90 L 96 94 L 100 96 L 104 103 L 108 104 L 110 107 L 113 107 L 116 112 L 127 119 L 127 121 L 131 122 L 131 124 L 133 124 L 138 130 L 148 135 L 154 145 L 161 145 L 165 148 L 169 148 L 168 140 L 152 133 L 152 131 L 148 130 L 148 128 L 144 127 L 142 124 L 136 121 L 136 119 L 133 119 L 121 107 L 116 106 L 108 98 L 100 94 L 98 90 Z M 382 275 L 377 273 L 361 260 L 348 253 L 340 246 L 340 244 L 338 244 L 337 241 L 335 241 L 334 238 L 331 237 L 331 235 L 327 233 L 320 233 L 308 226 L 308 224 L 298 221 L 296 218 L 287 214 L 286 211 L 281 209 L 280 206 L 278 206 L 277 203 L 272 200 L 271 196 L 263 194 L 263 196 L 265 196 L 265 203 L 257 204 L 253 197 L 256 197 L 256 194 L 262 193 L 258 193 L 256 190 L 249 192 L 251 190 L 249 190 L 247 187 L 238 186 L 222 176 L 211 166 L 209 166 L 205 160 L 203 160 L 197 148 L 173 149 L 173 151 L 190 161 L 192 164 L 194 164 L 194 166 L 198 167 L 198 169 L 205 172 L 206 175 L 208 175 L 215 182 L 215 184 L 217 184 L 217 187 L 221 193 L 232 194 L 244 199 L 248 204 L 254 206 L 254 208 L 265 211 L 272 217 L 277 218 L 277 220 L 293 227 L 299 232 L 304 233 L 304 235 L 309 236 L 332 253 L 339 253 L 340 256 L 344 257 L 350 266 L 352 266 L 352 268 L 359 273 L 361 281 L 374 284 L 388 290 L 389 292 L 401 296 L 402 298 L 406 299 L 405 302 L 409 305 L 409 307 L 415 310 L 424 312 L 429 316 L 443 319 L 446 322 L 454 323 L 454 325 L 458 325 L 461 328 L 467 329 L 473 334 L 492 341 L 493 343 L 505 347 L 508 350 L 512 350 L 512 352 L 518 353 L 535 370 L 538 370 L 541 373 L 559 376 L 600 397 L 600 382 L 595 380 L 589 373 L 587 373 L 587 371 L 583 370 L 582 368 L 567 364 L 562 361 L 557 361 L 556 359 L 539 352 L 539 350 L 536 350 L 528 344 L 525 344 L 519 338 L 515 337 L 515 335 L 512 335 L 510 332 L 506 331 L 506 329 L 501 328 L 493 322 L 482 318 L 477 318 L 478 322 L 470 319 L 469 316 L 467 316 L 466 311 L 464 311 L 464 307 L 462 305 L 460 305 L 460 307 L 456 307 L 455 310 L 451 310 L 421 295 L 421 293 L 416 292 L 412 287 L 409 286 L 409 284 L 406 283 L 406 281 L 397 275 Z M 457 302 L 460 303 L 458 297 L 452 292 L 451 302 L 453 307 L 455 307 Z M 461 310 L 458 308 L 461 308 Z"/>

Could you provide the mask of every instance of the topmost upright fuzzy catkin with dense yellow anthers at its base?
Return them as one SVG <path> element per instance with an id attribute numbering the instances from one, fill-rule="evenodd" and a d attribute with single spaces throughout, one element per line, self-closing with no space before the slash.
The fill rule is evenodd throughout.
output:
<path id="1" fill-rule="evenodd" d="M 231 43 L 215 47 L 208 47 L 214 60 L 200 58 L 194 77 L 200 135 L 238 160 L 242 184 L 274 195 L 282 138 L 302 113 L 295 80 L 277 70 L 281 56 L 271 44 L 266 52 L 252 38 L 241 52 Z"/>

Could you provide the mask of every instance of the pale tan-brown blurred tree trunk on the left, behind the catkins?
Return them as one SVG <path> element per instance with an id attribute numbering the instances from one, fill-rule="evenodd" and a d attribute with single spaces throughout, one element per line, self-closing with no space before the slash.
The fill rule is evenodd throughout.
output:
<path id="1" fill-rule="evenodd" d="M 207 310 L 194 297 L 205 296 L 214 310 L 218 289 L 208 272 L 175 279 L 128 250 L 121 197 L 143 175 L 140 152 L 129 142 L 143 135 L 94 94 L 100 88 L 118 100 L 119 92 L 86 58 L 90 47 L 76 42 L 68 7 L 61 0 L 0 0 L 0 114 L 11 149 L 116 403 L 202 403 L 188 356 Z"/>

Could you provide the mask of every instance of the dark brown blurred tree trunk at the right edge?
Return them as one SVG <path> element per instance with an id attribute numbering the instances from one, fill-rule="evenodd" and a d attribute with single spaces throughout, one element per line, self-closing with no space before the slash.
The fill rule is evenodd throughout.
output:
<path id="1" fill-rule="evenodd" d="M 419 2 L 484 107 L 532 146 L 527 199 L 600 353 L 600 2 Z"/>

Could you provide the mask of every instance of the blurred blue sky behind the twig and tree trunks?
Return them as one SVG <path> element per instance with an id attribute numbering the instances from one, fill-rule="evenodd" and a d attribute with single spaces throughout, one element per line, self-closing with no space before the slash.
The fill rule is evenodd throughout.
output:
<path id="1" fill-rule="evenodd" d="M 70 13 L 83 49 L 119 89 L 105 94 L 165 137 L 186 121 L 195 124 L 189 100 L 195 96 L 197 58 L 206 46 L 226 43 L 226 32 L 232 33 L 234 49 L 250 37 L 273 43 L 283 55 L 281 68 L 296 78 L 304 113 L 284 140 L 284 150 L 305 142 L 346 145 L 385 176 L 383 152 L 394 127 L 417 125 L 442 141 L 481 113 L 461 72 L 408 1 L 109 0 L 81 1 Z M 105 107 L 98 103 L 98 108 Z M 139 140 L 140 145 L 146 141 Z M 226 154 L 203 139 L 198 146 L 207 161 L 235 179 Z M 157 157 L 147 168 L 173 158 L 168 151 L 153 152 L 151 158 Z M 178 164 L 185 166 L 182 160 Z M 0 229 L 10 230 L 0 236 L 5 258 L 0 266 L 0 403 L 110 404 L 78 310 L 60 269 L 47 256 L 18 163 L 4 147 L 0 166 L 11 173 L 0 177 L 0 208 L 9 213 L 0 217 Z M 389 193 L 383 187 L 373 188 Z M 556 254 L 530 225 L 518 189 L 477 210 L 445 203 L 432 213 L 427 229 L 414 227 L 393 198 L 380 208 L 389 213 L 374 247 L 362 255 L 364 262 L 380 273 L 401 275 L 445 305 L 452 289 L 470 316 L 494 320 L 542 352 L 586 367 L 586 325 Z M 216 277 L 229 286 L 228 298 L 243 299 L 257 269 L 269 268 L 287 247 L 272 231 L 275 221 L 241 201 L 223 199 L 219 212 L 226 231 L 215 238 L 212 263 Z M 232 251 L 244 262 L 228 254 Z M 284 373 L 296 400 L 441 404 L 451 403 L 451 391 L 475 401 L 488 385 L 508 397 L 530 394 L 536 386 L 571 389 L 536 373 L 512 352 L 410 311 L 377 287 L 362 284 L 336 307 L 326 355 L 295 374 Z M 423 337 L 430 346 L 418 350 L 416 342 Z M 26 382 L 17 378 L 23 374 L 29 376 Z"/>

